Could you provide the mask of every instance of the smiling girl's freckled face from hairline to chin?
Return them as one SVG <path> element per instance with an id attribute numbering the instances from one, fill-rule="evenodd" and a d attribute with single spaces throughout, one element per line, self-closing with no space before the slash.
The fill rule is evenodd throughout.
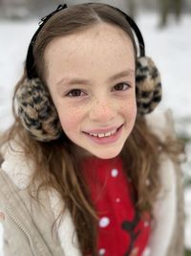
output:
<path id="1" fill-rule="evenodd" d="M 131 39 L 101 23 L 53 39 L 45 61 L 47 84 L 66 135 L 85 153 L 116 157 L 137 115 Z"/>

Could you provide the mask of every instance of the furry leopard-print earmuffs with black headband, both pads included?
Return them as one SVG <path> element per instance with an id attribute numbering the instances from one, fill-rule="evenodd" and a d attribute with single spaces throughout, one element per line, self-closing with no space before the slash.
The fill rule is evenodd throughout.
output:
<path id="1" fill-rule="evenodd" d="M 27 79 L 23 81 L 15 95 L 19 118 L 23 126 L 37 141 L 53 141 L 59 138 L 63 132 L 51 96 L 36 75 L 32 54 L 33 44 L 47 20 L 55 12 L 66 8 L 67 5 L 59 5 L 55 11 L 41 19 L 39 28 L 32 36 L 28 49 L 26 59 Z M 144 115 L 152 112 L 161 100 L 159 71 L 153 60 L 145 56 L 144 41 L 134 20 L 125 12 L 119 9 L 117 11 L 125 15 L 126 20 L 138 38 L 139 57 L 137 58 L 136 71 L 136 97 L 138 115 Z"/>

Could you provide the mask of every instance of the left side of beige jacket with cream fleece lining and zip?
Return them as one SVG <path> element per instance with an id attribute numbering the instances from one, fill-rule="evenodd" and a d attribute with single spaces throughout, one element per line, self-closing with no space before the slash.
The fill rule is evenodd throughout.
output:
<path id="1" fill-rule="evenodd" d="M 0 170 L 0 211 L 5 216 L 4 234 L 9 241 L 17 241 L 17 238 L 20 241 L 11 246 L 4 244 L 5 249 L 9 251 L 7 255 L 17 255 L 10 253 L 10 250 L 18 247 L 21 251 L 19 255 L 26 255 L 25 251 L 27 249 L 31 251 L 32 248 L 36 251 L 38 248 L 43 248 L 43 255 L 47 256 L 50 255 L 50 251 L 53 253 L 51 255 L 61 256 L 63 249 L 72 252 L 67 255 L 80 255 L 79 250 L 73 245 L 74 223 L 67 209 L 61 225 L 57 228 L 59 219 L 56 221 L 56 218 L 59 217 L 64 206 L 58 193 L 53 189 L 46 191 L 40 189 L 39 200 L 32 198 L 28 193 L 28 185 L 32 177 L 32 162 L 26 159 L 24 151 L 14 143 L 4 149 L 3 156 L 4 161 Z M 32 187 L 32 192 L 33 190 L 35 193 L 36 186 Z M 53 239 L 54 222 L 56 226 Z M 32 244 L 32 248 L 29 247 L 29 243 Z M 22 247 L 25 247 L 25 251 Z M 39 255 L 41 252 L 33 254 Z"/>

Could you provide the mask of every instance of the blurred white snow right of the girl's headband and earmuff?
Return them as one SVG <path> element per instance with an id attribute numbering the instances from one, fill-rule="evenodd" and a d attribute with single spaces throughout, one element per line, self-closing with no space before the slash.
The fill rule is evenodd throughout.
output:
<path id="1" fill-rule="evenodd" d="M 181 23 L 171 20 L 167 29 L 159 29 L 156 15 L 140 16 L 138 25 L 144 36 L 146 53 L 158 64 L 163 84 L 162 107 L 174 110 L 176 118 L 191 117 L 190 66 L 191 47 L 188 26 L 191 17 Z M 187 36 L 186 36 L 187 35 Z"/>

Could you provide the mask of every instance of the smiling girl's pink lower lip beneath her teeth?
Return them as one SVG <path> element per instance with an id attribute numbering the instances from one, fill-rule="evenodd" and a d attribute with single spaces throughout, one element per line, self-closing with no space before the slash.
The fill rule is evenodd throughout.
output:
<path id="1" fill-rule="evenodd" d="M 94 137 L 92 135 L 89 135 L 88 133 L 84 133 L 86 136 L 88 136 L 88 138 L 90 138 L 92 141 L 94 141 L 96 144 L 110 144 L 110 143 L 114 143 L 117 141 L 117 139 L 120 137 L 121 133 L 122 133 L 122 127 L 117 129 L 117 132 L 115 134 L 113 134 L 112 136 L 109 137 Z"/>

